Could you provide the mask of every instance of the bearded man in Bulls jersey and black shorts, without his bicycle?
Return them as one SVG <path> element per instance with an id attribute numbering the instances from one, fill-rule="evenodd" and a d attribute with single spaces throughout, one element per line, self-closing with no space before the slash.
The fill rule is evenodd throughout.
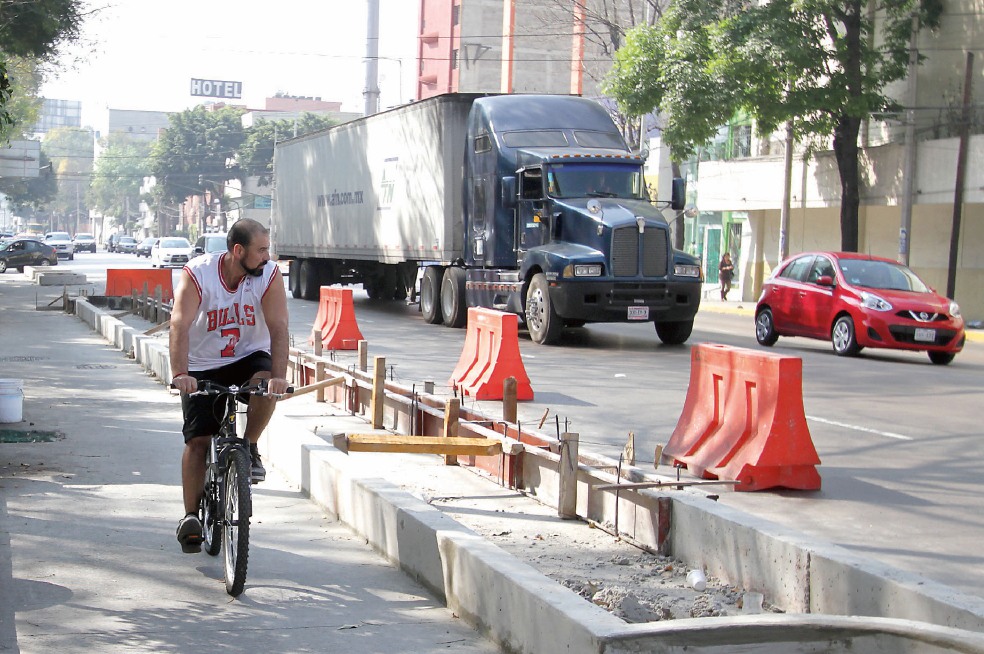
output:
<path id="1" fill-rule="evenodd" d="M 201 380 L 242 386 L 267 379 L 269 395 L 246 396 L 246 438 L 253 459 L 253 482 L 266 470 L 256 443 L 273 415 L 276 396 L 287 391 L 287 294 L 276 262 L 270 260 L 270 230 L 261 223 L 236 222 L 227 250 L 189 261 L 181 272 L 171 311 L 172 385 L 181 391 L 185 448 L 181 485 L 185 516 L 178 523 L 182 551 L 200 552 L 198 505 L 211 437 L 219 431 L 214 398 L 189 397 Z"/>

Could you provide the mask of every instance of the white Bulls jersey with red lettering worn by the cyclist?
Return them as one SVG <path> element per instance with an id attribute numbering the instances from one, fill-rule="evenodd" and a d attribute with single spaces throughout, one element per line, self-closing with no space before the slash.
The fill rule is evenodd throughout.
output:
<path id="1" fill-rule="evenodd" d="M 239 287 L 226 286 L 222 258 L 226 252 L 189 261 L 182 272 L 198 290 L 201 305 L 188 332 L 188 370 L 219 368 L 260 350 L 270 351 L 270 330 L 263 317 L 263 296 L 277 264 L 268 261 L 259 277 L 246 275 Z"/>

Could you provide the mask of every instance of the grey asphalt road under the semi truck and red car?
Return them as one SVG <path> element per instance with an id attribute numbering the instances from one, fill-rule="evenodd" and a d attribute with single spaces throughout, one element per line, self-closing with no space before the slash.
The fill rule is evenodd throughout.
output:
<path id="1" fill-rule="evenodd" d="M 89 256 L 73 264 L 97 287 L 107 264 L 147 265 L 131 255 Z M 702 309 L 688 345 L 759 349 L 751 317 L 736 305 Z M 295 344 L 306 347 L 317 305 L 291 299 L 289 306 Z M 355 309 L 370 357 L 386 357 L 388 376 L 411 386 L 434 381 L 438 393 L 450 394 L 464 330 L 427 325 L 415 306 L 372 302 L 358 287 Z M 570 330 L 556 347 L 537 346 L 521 331 L 520 350 L 535 393 L 520 406 L 522 422 L 538 423 L 549 411 L 545 431 L 578 432 L 582 449 L 616 459 L 633 432 L 640 465 L 651 465 L 654 447 L 680 418 L 690 347 L 662 345 L 651 325 L 619 324 Z M 924 354 L 870 349 L 845 359 L 828 343 L 803 339 L 780 339 L 772 351 L 803 360 L 803 403 L 823 488 L 724 492 L 720 501 L 984 595 L 984 343 L 968 342 L 949 366 L 932 365 Z M 336 357 L 355 364 L 354 353 Z M 481 408 L 490 416 L 500 410 L 497 403 Z"/>

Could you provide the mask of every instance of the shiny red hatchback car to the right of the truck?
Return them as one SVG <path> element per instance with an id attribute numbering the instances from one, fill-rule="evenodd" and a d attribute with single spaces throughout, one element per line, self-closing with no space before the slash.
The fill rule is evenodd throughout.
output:
<path id="1" fill-rule="evenodd" d="M 856 252 L 805 252 L 790 257 L 762 287 L 755 338 L 829 340 L 853 356 L 865 347 L 920 350 L 946 365 L 963 349 L 960 307 L 902 264 Z"/>

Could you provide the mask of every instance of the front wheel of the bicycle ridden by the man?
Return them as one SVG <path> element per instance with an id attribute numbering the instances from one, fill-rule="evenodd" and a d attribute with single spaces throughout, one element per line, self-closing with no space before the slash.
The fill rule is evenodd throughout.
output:
<path id="1" fill-rule="evenodd" d="M 222 549 L 225 550 L 226 592 L 233 597 L 246 585 L 249 562 L 249 518 L 253 513 L 249 455 L 241 449 L 229 453 L 222 493 Z"/>

